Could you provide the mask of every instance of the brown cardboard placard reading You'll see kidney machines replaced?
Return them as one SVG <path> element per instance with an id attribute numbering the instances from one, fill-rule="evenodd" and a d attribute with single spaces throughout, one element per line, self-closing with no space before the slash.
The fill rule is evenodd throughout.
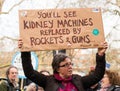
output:
<path id="1" fill-rule="evenodd" d="M 97 48 L 105 40 L 100 8 L 19 11 L 21 51 Z"/>

